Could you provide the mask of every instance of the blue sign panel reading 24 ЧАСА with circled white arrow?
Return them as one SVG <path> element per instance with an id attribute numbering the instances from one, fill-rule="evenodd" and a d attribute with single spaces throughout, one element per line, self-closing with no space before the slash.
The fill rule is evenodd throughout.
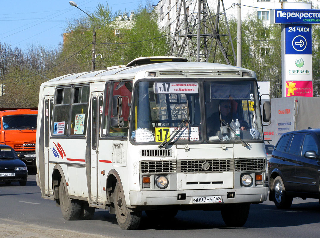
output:
<path id="1" fill-rule="evenodd" d="M 285 54 L 312 54 L 311 24 L 285 26 Z"/>

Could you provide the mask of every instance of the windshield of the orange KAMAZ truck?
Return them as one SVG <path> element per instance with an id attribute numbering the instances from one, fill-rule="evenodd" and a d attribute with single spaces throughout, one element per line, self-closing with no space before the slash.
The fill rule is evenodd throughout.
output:
<path id="1" fill-rule="evenodd" d="M 4 116 L 4 130 L 33 130 L 36 129 L 37 115 L 10 115 Z"/>

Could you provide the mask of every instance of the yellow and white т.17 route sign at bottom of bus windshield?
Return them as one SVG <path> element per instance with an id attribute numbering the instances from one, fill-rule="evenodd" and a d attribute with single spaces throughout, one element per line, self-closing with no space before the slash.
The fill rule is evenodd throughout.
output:
<path id="1" fill-rule="evenodd" d="M 177 127 L 156 127 L 156 142 L 163 142 L 170 140 L 170 135 Z M 173 140 L 188 140 L 190 135 L 190 141 L 199 140 L 199 127 L 190 127 L 190 134 L 187 127 L 182 130 L 173 138 Z"/>

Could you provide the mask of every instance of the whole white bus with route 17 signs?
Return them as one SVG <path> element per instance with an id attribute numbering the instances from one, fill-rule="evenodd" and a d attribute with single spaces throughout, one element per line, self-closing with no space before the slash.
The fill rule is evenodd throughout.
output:
<path id="1" fill-rule="evenodd" d="M 256 74 L 186 61 L 142 57 L 41 85 L 37 184 L 65 219 L 109 209 L 136 229 L 142 211 L 221 210 L 227 226 L 243 226 L 250 204 L 266 201 Z"/>

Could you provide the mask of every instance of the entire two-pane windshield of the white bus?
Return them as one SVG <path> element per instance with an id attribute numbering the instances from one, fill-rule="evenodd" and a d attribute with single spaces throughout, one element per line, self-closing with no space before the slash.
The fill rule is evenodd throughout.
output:
<path id="1" fill-rule="evenodd" d="M 262 140 L 256 92 L 254 81 L 207 80 L 203 89 L 197 81 L 140 81 L 134 92 L 131 138 L 137 143 L 197 142 L 206 134 L 209 143 Z M 238 136 L 232 136 L 232 119 L 240 123 Z"/>

